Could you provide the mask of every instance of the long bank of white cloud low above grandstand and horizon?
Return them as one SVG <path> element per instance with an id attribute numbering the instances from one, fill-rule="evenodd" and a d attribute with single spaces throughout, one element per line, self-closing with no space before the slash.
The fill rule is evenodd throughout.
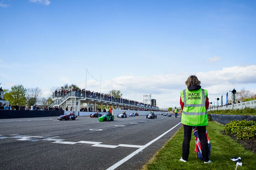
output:
<path id="1" fill-rule="evenodd" d="M 121 90 L 126 99 L 142 101 L 144 94 L 152 94 L 160 107 L 180 106 L 180 91 L 187 88 L 185 81 L 190 75 L 197 75 L 201 80 L 201 86 L 208 90 L 208 98 L 214 101 L 215 98 L 224 96 L 229 90 L 235 88 L 255 92 L 256 65 L 224 67 L 222 70 L 213 70 L 199 73 L 173 73 L 168 75 L 150 76 L 120 76 L 111 80 L 100 82 L 87 77 L 87 90 L 101 93 L 108 93 L 111 88 Z M 74 83 L 81 89 L 85 88 L 85 80 L 74 81 L 67 77 L 60 77 L 64 83 Z M 253 88 L 250 89 L 250 86 Z M 100 88 L 101 87 L 101 88 Z M 55 89 L 54 89 L 55 90 Z M 44 95 L 52 94 L 50 89 L 45 90 Z M 230 93 L 229 93 L 230 95 Z"/>

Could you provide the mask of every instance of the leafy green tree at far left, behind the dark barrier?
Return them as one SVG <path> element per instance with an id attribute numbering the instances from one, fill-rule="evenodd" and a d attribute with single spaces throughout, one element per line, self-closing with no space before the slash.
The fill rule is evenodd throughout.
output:
<path id="1" fill-rule="evenodd" d="M 23 85 L 14 85 L 10 92 L 6 92 L 4 99 L 9 101 L 10 105 L 26 105 L 26 89 Z"/>

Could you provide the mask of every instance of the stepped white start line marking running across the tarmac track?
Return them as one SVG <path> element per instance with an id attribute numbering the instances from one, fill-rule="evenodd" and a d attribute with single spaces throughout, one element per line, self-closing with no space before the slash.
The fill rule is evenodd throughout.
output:
<path id="1" fill-rule="evenodd" d="M 44 138 L 42 136 L 27 136 L 27 135 L 9 135 L 9 136 L 3 136 L 0 135 L 0 139 L 6 139 L 6 138 L 16 138 L 16 140 L 21 140 L 21 141 L 31 141 L 31 142 L 36 142 L 36 141 L 51 141 L 54 144 L 66 144 L 66 145 L 74 145 L 74 144 L 90 144 L 91 146 L 94 147 L 103 147 L 103 148 L 117 148 L 117 147 L 129 147 L 129 148 L 141 148 L 143 145 L 126 145 L 126 144 L 119 144 L 119 145 L 104 145 L 102 142 L 93 142 L 93 141 L 79 141 L 79 142 L 70 142 L 70 141 L 64 141 L 64 139 L 56 139 L 56 137 L 59 136 L 54 136 L 51 138 Z M 44 139 L 32 139 L 32 138 L 44 138 Z"/>

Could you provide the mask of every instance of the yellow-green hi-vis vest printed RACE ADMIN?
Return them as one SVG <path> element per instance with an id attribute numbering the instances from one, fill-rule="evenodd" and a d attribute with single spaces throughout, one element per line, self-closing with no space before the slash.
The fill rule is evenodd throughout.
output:
<path id="1" fill-rule="evenodd" d="M 205 101 L 207 97 L 207 90 L 188 89 L 181 91 L 181 101 L 184 103 L 181 123 L 183 125 L 191 126 L 205 126 L 208 125 L 208 118 L 205 108 Z"/>

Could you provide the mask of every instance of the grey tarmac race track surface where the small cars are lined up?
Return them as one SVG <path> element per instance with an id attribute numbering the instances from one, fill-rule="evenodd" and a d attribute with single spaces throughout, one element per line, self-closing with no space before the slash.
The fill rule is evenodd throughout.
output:
<path id="1" fill-rule="evenodd" d="M 115 116 L 114 121 L 108 122 L 99 122 L 89 116 L 66 121 L 59 121 L 57 117 L 1 119 L 0 169 L 106 170 L 180 121 L 181 117 L 163 115 L 157 115 L 154 120 L 146 119 L 144 115 Z M 181 124 L 116 170 L 141 169 L 180 127 Z M 92 146 L 95 142 L 101 143 Z M 120 144 L 128 147 L 118 146 Z"/>

